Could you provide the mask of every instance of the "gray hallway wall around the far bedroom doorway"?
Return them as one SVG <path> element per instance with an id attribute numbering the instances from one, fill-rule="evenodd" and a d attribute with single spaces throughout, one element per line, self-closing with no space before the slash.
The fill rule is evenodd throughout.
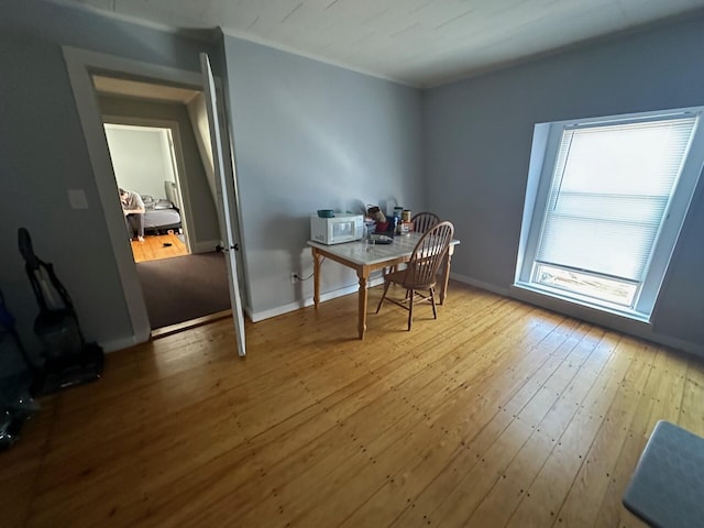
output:
<path id="1" fill-rule="evenodd" d="M 190 226 L 191 242 L 195 245 L 199 241 L 212 242 L 220 240 L 218 226 L 218 212 L 208 187 L 206 173 L 200 161 L 200 153 L 196 144 L 193 125 L 185 105 L 166 103 L 130 98 L 101 96 L 99 98 L 100 110 L 105 116 L 124 118 L 156 119 L 175 121 L 178 123 L 178 134 L 184 154 L 186 168 L 185 178 L 190 197 L 191 216 L 194 224 Z M 165 197 L 164 182 L 160 182 L 161 191 L 154 198 Z M 138 190 L 138 189 L 132 189 Z M 215 244 L 211 244 L 215 248 Z M 211 248 L 212 249 L 212 248 Z"/>

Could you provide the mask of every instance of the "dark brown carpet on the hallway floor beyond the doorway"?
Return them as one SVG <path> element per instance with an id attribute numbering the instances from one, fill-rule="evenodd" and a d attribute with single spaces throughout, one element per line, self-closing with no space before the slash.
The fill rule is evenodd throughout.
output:
<path id="1" fill-rule="evenodd" d="M 177 256 L 135 265 L 152 329 L 230 308 L 227 268 L 221 253 Z"/>

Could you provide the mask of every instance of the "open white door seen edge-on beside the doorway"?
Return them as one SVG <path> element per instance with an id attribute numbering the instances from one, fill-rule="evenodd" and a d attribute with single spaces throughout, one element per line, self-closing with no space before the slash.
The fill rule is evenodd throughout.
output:
<path id="1" fill-rule="evenodd" d="M 218 220 L 220 221 L 221 245 L 224 250 L 228 264 L 228 284 L 230 285 L 230 301 L 232 302 L 232 319 L 234 321 L 234 334 L 237 339 L 238 354 L 244 355 L 244 315 L 242 312 L 242 298 L 240 297 L 240 280 L 238 277 L 238 260 L 234 252 L 238 249 L 235 241 L 234 223 L 234 182 L 226 177 L 222 143 L 220 140 L 220 120 L 218 118 L 218 103 L 216 98 L 216 84 L 210 69 L 210 61 L 205 53 L 200 54 L 200 69 L 204 77 L 204 91 L 206 107 L 208 109 L 208 123 L 210 127 L 210 142 L 212 143 L 212 165 L 216 175 L 218 191 Z"/>

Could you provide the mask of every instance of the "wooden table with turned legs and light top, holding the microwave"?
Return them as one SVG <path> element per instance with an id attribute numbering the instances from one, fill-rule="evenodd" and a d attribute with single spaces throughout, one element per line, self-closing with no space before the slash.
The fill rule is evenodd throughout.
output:
<path id="1" fill-rule="evenodd" d="M 366 331 L 366 287 L 370 275 L 376 270 L 383 270 L 385 267 L 408 262 L 418 240 L 420 240 L 420 233 L 400 234 L 395 237 L 394 242 L 391 244 L 372 244 L 369 246 L 363 240 L 336 245 L 324 245 L 309 240 L 308 245 L 312 251 L 315 284 L 312 299 L 316 304 L 316 309 L 320 305 L 320 263 L 322 262 L 322 258 L 330 258 L 343 266 L 351 267 L 356 272 L 356 276 L 360 279 L 358 294 L 358 331 L 360 339 L 364 339 L 364 332 Z M 446 262 L 442 266 L 443 272 L 440 284 L 441 305 L 444 302 L 447 297 L 448 280 L 450 279 L 450 262 L 452 260 L 452 254 L 454 253 L 454 246 L 459 243 L 459 240 L 452 240 L 446 256 Z"/>

